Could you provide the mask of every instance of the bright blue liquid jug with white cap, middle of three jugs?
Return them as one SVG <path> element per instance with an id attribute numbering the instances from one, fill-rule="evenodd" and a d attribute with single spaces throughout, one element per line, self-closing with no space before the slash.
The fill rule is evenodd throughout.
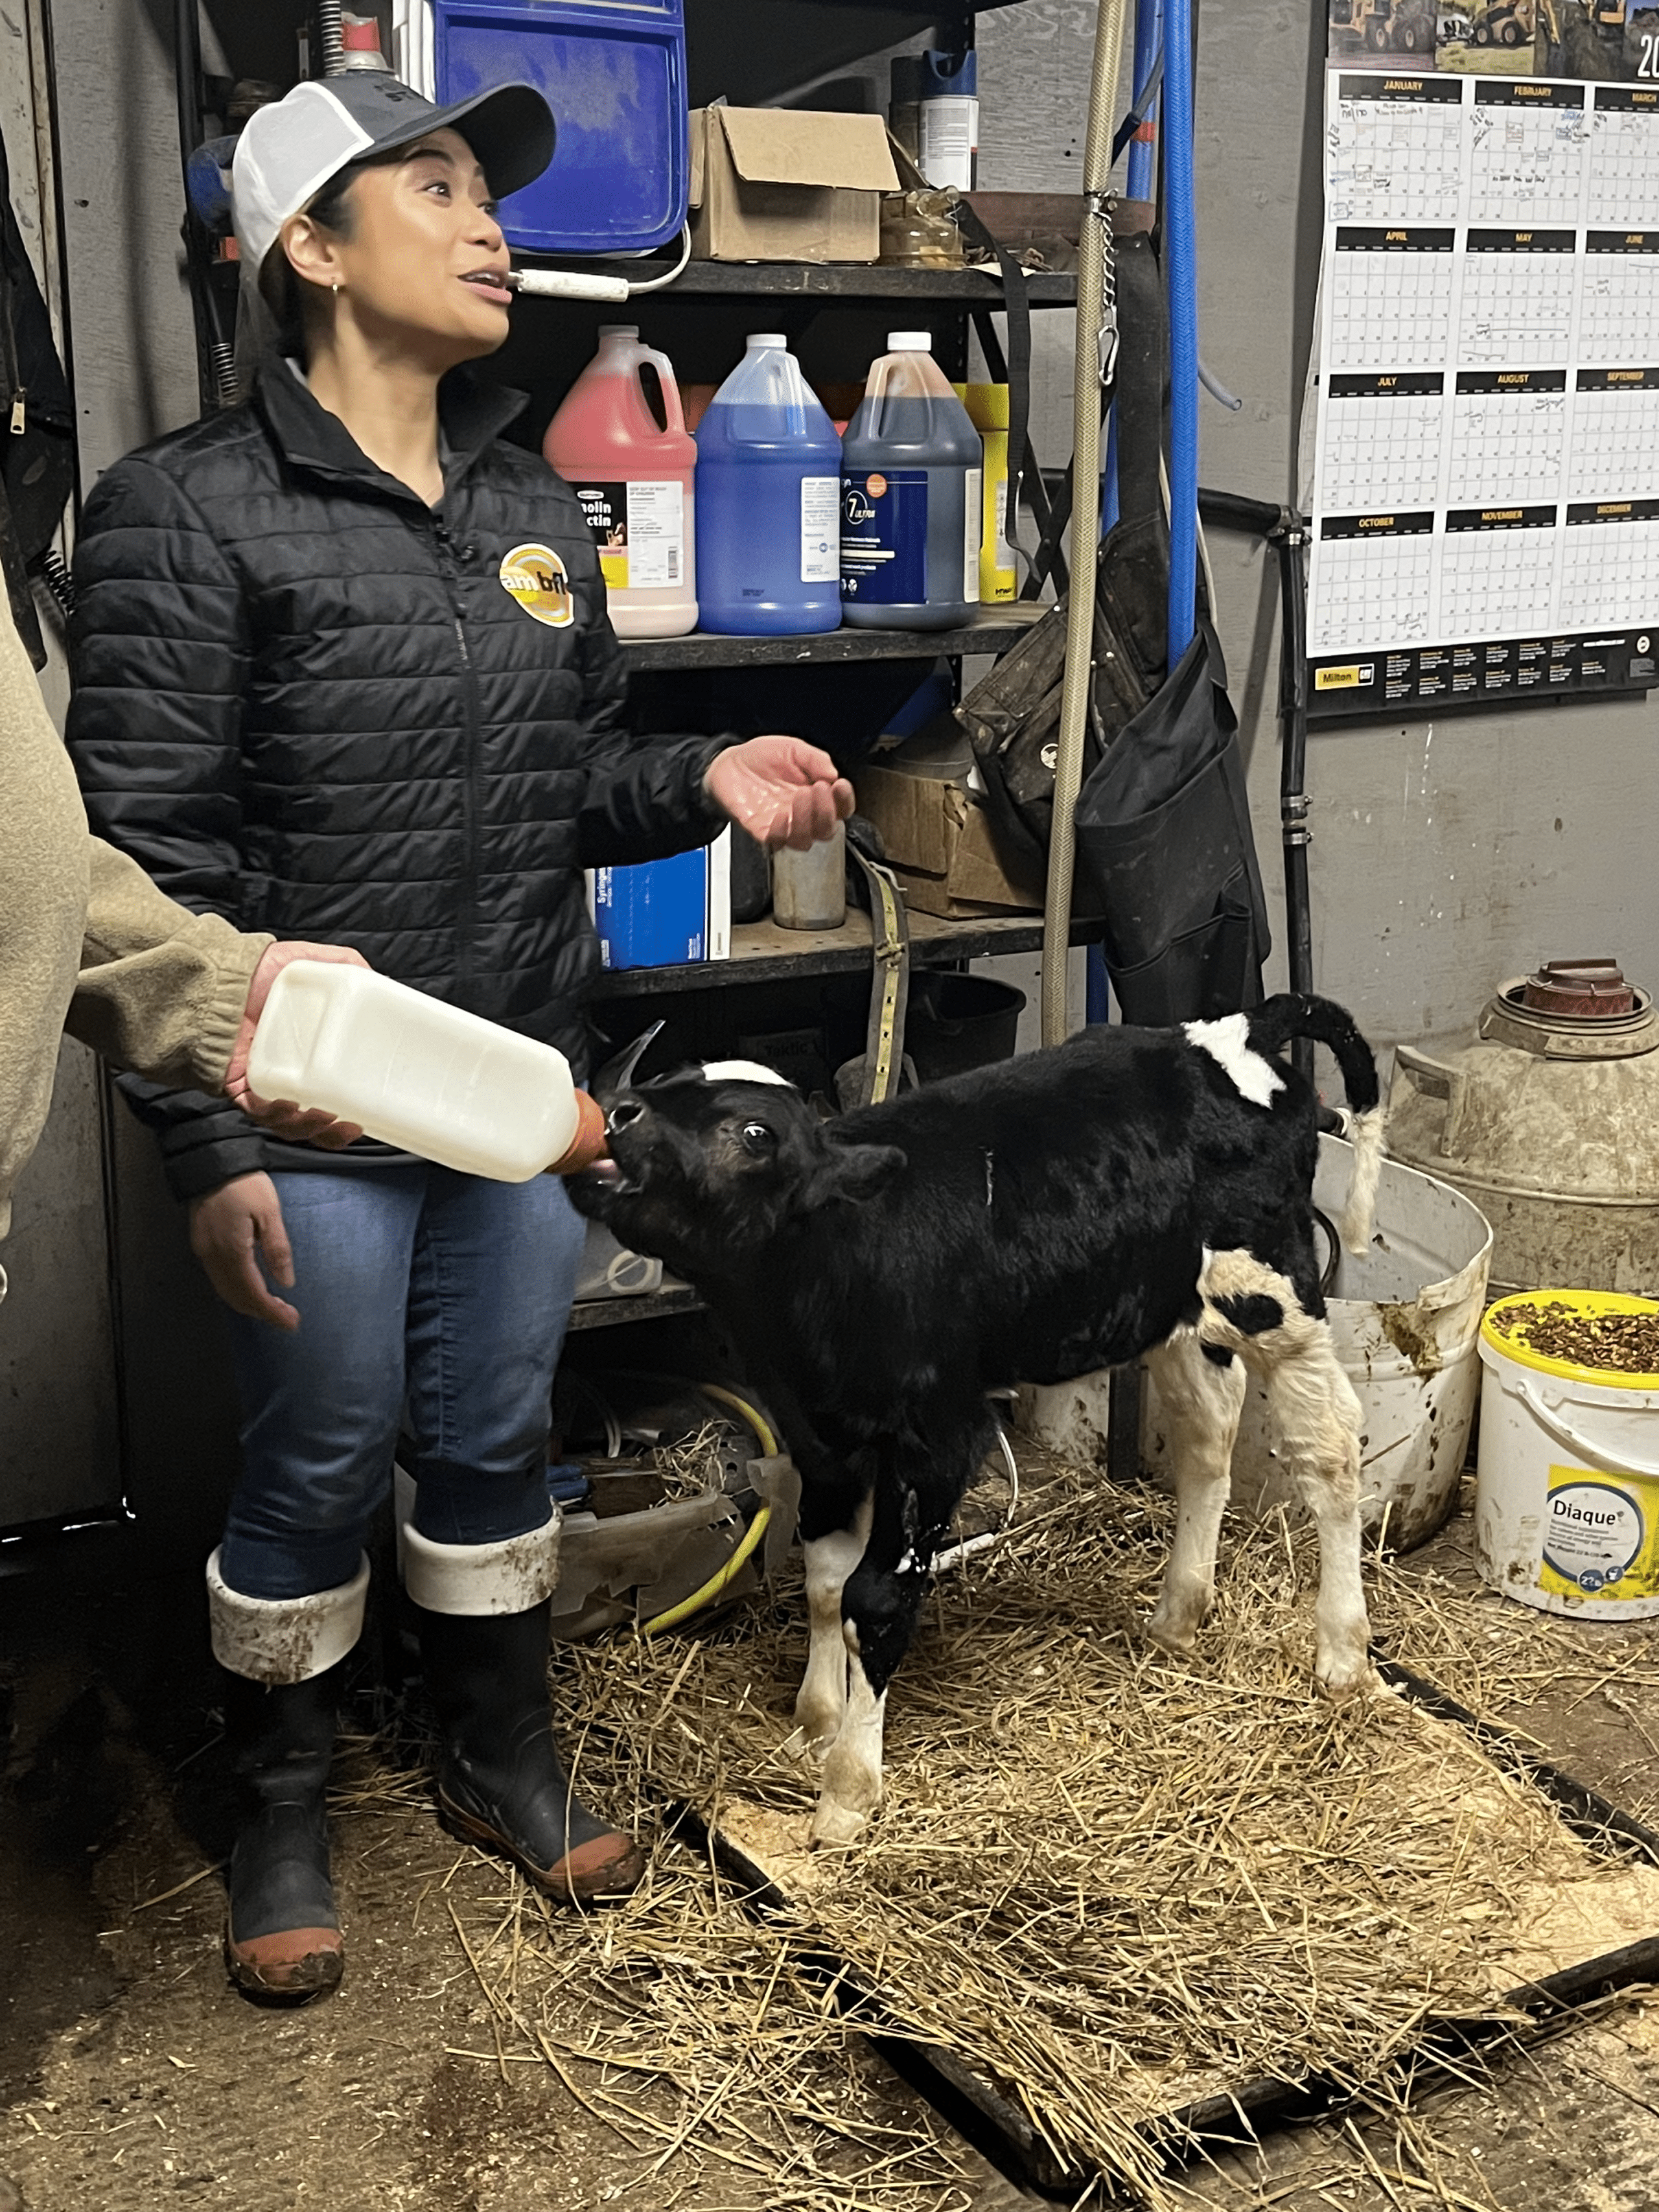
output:
<path id="1" fill-rule="evenodd" d="M 841 438 L 761 332 L 697 425 L 697 611 L 726 637 L 841 628 Z"/>

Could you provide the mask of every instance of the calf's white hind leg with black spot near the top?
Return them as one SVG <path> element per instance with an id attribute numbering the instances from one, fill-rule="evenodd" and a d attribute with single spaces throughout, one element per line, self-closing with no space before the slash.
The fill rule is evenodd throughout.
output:
<path id="1" fill-rule="evenodd" d="M 1279 1453 L 1318 1528 L 1314 1677 L 1329 1697 L 1374 1686 L 1360 1579 L 1360 1400 L 1290 1276 L 1250 1252 L 1212 1252 L 1199 1336 L 1237 1352 L 1267 1385 Z"/>

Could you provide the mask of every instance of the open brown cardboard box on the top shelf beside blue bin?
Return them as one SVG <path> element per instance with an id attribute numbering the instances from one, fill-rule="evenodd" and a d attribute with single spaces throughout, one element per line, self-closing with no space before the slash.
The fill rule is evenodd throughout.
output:
<path id="1" fill-rule="evenodd" d="M 880 195 L 898 190 L 880 115 L 692 113 L 699 261 L 874 261 Z"/>

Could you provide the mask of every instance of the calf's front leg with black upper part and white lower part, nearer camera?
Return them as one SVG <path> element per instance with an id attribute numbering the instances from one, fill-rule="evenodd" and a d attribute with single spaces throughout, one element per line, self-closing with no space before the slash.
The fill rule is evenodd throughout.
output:
<path id="1" fill-rule="evenodd" d="M 971 1449 L 960 1458 L 971 1471 Z M 812 1818 L 814 1845 L 856 1843 L 880 1803 L 887 1683 L 916 1635 L 933 1577 L 933 1553 L 962 1495 L 967 1471 L 958 1471 L 956 1480 L 940 1480 L 936 1469 L 887 1462 L 876 1475 L 869 1540 L 841 1595 L 847 1710 L 823 1763 L 823 1790 Z"/>

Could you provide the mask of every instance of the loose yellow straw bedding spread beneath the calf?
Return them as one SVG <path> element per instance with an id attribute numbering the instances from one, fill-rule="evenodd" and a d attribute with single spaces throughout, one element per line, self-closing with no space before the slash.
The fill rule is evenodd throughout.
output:
<path id="1" fill-rule="evenodd" d="M 1170 2106 L 1263 2075 L 1374 2077 L 1429 2015 L 1491 2011 L 1528 1973 L 1659 1931 L 1659 1876 L 1595 1860 L 1462 1732 L 1396 1697 L 1314 1701 L 1312 1546 L 1283 1522 L 1230 1531 L 1217 1613 L 1172 1661 L 1135 1626 L 1164 1500 L 1026 1453 L 1022 1473 L 1015 1531 L 936 1590 L 889 1699 L 887 1801 L 852 1854 L 801 1849 L 799 1586 L 699 1635 L 560 1655 L 584 1794 L 646 1829 L 686 1798 L 799 1900 L 792 1924 L 757 1927 L 664 1847 L 646 1889 L 586 1924 L 546 1920 L 518 1882 L 493 1920 L 458 1922 L 498 2033 L 597 2099 L 646 2166 L 748 2168 L 790 2212 L 967 2201 L 799 1971 L 823 1947 L 1066 2161 L 1157 2201 L 1141 2124 Z M 1374 1613 L 1453 1694 L 1506 1694 L 1522 1644 L 1504 1628 L 1493 1648 L 1480 1601 L 1383 1571 Z M 588 2039 L 560 2048 L 571 1997 Z M 679 2086 L 672 2128 L 628 2095 L 639 2075 Z"/>

